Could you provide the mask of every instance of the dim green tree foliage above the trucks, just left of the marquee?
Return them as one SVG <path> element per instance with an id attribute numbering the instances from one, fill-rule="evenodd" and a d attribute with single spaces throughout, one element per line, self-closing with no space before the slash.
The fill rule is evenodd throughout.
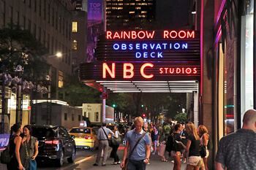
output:
<path id="1" fill-rule="evenodd" d="M 70 76 L 64 81 L 64 87 L 59 88 L 64 100 L 70 106 L 81 107 L 83 103 L 99 104 L 101 92 L 79 82 L 78 74 Z"/>

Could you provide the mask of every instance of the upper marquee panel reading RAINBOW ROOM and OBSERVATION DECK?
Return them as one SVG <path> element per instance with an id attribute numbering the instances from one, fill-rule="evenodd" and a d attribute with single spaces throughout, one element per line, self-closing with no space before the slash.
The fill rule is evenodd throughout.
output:
<path id="1" fill-rule="evenodd" d="M 199 31 L 106 31 L 98 61 L 200 61 Z"/>

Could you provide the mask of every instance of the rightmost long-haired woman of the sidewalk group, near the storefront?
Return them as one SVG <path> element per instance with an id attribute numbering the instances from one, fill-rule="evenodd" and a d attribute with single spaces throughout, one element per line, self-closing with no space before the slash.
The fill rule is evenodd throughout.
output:
<path id="1" fill-rule="evenodd" d="M 206 126 L 199 125 L 198 132 L 199 132 L 199 135 L 201 136 L 200 137 L 200 144 L 206 146 L 206 157 L 203 158 L 203 164 L 204 164 L 204 168 L 206 170 L 208 170 L 208 167 L 207 167 L 207 158 L 208 158 L 208 155 L 209 155 L 209 150 L 207 148 L 207 144 L 208 144 L 208 135 L 207 135 L 207 133 L 208 133 L 208 130 L 207 130 Z"/>

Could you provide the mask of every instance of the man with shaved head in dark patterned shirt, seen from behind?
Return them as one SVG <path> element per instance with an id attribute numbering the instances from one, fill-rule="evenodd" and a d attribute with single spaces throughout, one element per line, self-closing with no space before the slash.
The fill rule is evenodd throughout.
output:
<path id="1" fill-rule="evenodd" d="M 216 170 L 256 169 L 256 110 L 244 114 L 243 127 L 222 137 L 215 158 Z"/>

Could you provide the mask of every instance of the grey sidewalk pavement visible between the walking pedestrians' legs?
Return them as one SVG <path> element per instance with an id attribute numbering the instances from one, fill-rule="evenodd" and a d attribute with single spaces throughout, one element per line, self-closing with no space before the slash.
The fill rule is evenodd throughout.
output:
<path id="1" fill-rule="evenodd" d="M 108 157 L 110 155 L 112 148 L 108 150 Z M 156 152 L 157 153 L 157 152 Z M 117 151 L 118 157 L 121 161 L 123 161 L 124 157 L 124 147 L 119 147 Z M 102 158 L 99 161 L 99 166 L 93 166 L 96 161 L 97 155 L 91 156 L 91 158 L 86 158 L 86 161 L 76 162 L 75 165 L 65 168 L 65 170 L 81 170 L 81 169 L 89 169 L 89 170 L 120 170 L 120 165 L 111 165 L 113 163 L 113 158 L 108 158 L 106 161 L 106 166 L 101 166 Z M 151 155 L 150 156 L 150 165 L 146 166 L 146 170 L 170 170 L 173 169 L 172 159 L 166 157 L 168 162 L 162 162 L 161 157 L 159 155 Z M 181 169 L 185 169 L 186 163 L 181 163 Z M 60 169 L 61 170 L 61 169 Z M 64 169 L 63 169 L 64 170 Z"/>

